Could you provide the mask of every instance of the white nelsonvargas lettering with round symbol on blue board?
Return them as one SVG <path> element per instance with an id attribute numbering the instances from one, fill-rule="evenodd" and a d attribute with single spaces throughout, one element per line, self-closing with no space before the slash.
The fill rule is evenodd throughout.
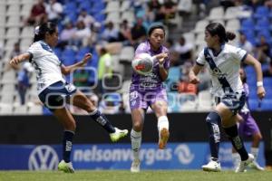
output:
<path id="1" fill-rule="evenodd" d="M 141 163 L 147 166 L 161 161 L 170 162 L 176 157 L 180 164 L 189 165 L 195 156 L 185 144 L 166 149 L 141 148 L 140 150 Z M 131 148 L 100 148 L 93 145 L 92 148 L 75 148 L 73 151 L 73 162 L 126 162 L 132 159 Z"/>

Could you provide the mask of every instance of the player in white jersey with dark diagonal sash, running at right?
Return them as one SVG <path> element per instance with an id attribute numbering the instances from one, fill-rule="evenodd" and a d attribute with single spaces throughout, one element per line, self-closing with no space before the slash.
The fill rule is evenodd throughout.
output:
<path id="1" fill-rule="evenodd" d="M 238 136 L 237 112 L 245 104 L 246 96 L 243 85 L 239 79 L 240 63 L 252 65 L 257 72 L 257 96 L 264 98 L 266 91 L 263 87 L 261 65 L 246 51 L 229 45 L 228 40 L 235 38 L 234 33 L 225 31 L 222 24 L 211 23 L 205 28 L 205 41 L 207 47 L 199 53 L 197 63 L 189 71 L 189 81 L 199 83 L 197 75 L 206 66 L 211 75 L 212 89 L 217 106 L 209 112 L 206 119 L 209 129 L 209 148 L 211 158 L 207 165 L 202 166 L 204 171 L 220 171 L 219 142 L 221 124 L 230 139 L 233 147 L 241 157 L 241 162 L 236 172 L 244 172 L 245 167 L 254 160 L 248 154 L 242 139 Z"/>

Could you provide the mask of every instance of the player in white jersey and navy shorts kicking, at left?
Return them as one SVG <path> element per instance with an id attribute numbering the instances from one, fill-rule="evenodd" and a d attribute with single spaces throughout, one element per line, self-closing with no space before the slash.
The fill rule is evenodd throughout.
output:
<path id="1" fill-rule="evenodd" d="M 108 131 L 112 141 L 117 141 L 126 136 L 128 130 L 114 128 L 80 90 L 76 90 L 73 84 L 69 84 L 63 79 L 62 74 L 66 75 L 79 67 L 83 67 L 92 58 L 92 54 L 86 53 L 81 62 L 66 67 L 52 50 L 57 41 L 58 29 L 56 24 L 42 24 L 35 28 L 34 43 L 28 51 L 15 56 L 10 64 L 16 65 L 29 60 L 34 65 L 39 99 L 45 107 L 53 112 L 53 115 L 63 124 L 64 128 L 63 160 L 59 163 L 58 168 L 65 173 L 73 173 L 71 149 L 76 123 L 71 112 L 65 108 L 66 102 L 89 112 L 90 117 Z"/>

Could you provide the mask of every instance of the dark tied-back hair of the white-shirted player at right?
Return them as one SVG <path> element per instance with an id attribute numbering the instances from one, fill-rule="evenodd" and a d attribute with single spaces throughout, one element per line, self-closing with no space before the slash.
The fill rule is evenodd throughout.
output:
<path id="1" fill-rule="evenodd" d="M 228 43 L 228 40 L 234 40 L 236 37 L 235 33 L 226 32 L 225 27 L 220 23 L 208 24 L 205 28 L 210 35 L 218 35 L 220 43 Z"/>

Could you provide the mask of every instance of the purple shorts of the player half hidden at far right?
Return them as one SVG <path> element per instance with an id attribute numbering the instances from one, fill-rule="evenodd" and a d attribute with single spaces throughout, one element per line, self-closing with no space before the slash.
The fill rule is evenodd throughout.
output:
<path id="1" fill-rule="evenodd" d="M 238 124 L 238 133 L 244 137 L 251 137 L 260 132 L 255 119 L 251 116 L 250 112 L 239 112 L 243 121 Z"/>

